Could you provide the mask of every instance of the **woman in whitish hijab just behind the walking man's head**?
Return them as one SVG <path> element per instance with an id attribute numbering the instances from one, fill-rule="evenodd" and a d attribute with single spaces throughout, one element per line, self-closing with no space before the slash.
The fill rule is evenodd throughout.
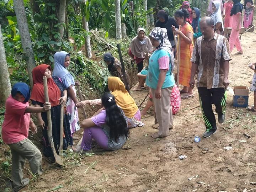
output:
<path id="1" fill-rule="evenodd" d="M 213 14 L 211 15 L 211 18 L 214 22 L 214 31 L 216 31 L 218 34 L 223 35 L 224 28 L 219 1 L 216 0 L 212 2 L 212 10 L 214 11 Z"/>

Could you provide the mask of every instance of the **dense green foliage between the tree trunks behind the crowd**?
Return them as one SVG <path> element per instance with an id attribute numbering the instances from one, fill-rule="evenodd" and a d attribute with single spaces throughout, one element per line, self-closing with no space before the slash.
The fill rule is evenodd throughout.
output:
<path id="1" fill-rule="evenodd" d="M 53 66 L 53 55 L 59 50 L 71 53 L 70 71 L 75 77 L 82 77 L 88 86 L 102 92 L 108 72 L 101 62 L 87 59 L 84 54 L 85 37 L 90 35 L 93 53 L 102 54 L 112 49 L 115 56 L 115 12 L 114 0 L 69 0 L 66 4 L 65 23 L 58 23 L 59 1 L 23 0 L 31 34 L 34 57 L 37 64 Z M 138 27 L 146 27 L 146 18 L 162 7 L 176 10 L 180 0 L 148 0 L 148 10 L 144 10 L 143 0 L 121 0 L 121 20 L 126 24 L 129 38 L 134 37 Z M 131 7 L 133 5 L 133 9 Z M 91 32 L 82 28 L 82 16 L 89 22 Z M 12 84 L 17 81 L 29 82 L 26 71 L 20 33 L 12 0 L 0 0 L 0 22 L 4 36 L 7 64 Z M 58 28 L 64 26 L 64 36 L 60 38 Z M 101 30 L 99 30 L 101 29 Z M 99 32 L 100 31 L 100 32 Z M 93 33 L 93 34 L 92 34 Z M 119 42 L 123 54 L 127 55 L 128 42 Z M 125 47 L 124 47 L 125 46 Z M 82 51 L 80 51 L 82 50 Z M 129 63 L 129 62 L 127 62 Z"/>

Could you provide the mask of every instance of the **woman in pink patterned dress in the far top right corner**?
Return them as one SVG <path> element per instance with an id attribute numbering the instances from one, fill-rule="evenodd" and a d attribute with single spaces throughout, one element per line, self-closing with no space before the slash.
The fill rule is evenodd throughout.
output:
<path id="1" fill-rule="evenodd" d="M 244 3 L 244 27 L 249 28 L 252 26 L 252 20 L 253 20 L 253 12 L 254 12 L 255 6 L 253 5 L 252 0 L 245 0 Z"/>

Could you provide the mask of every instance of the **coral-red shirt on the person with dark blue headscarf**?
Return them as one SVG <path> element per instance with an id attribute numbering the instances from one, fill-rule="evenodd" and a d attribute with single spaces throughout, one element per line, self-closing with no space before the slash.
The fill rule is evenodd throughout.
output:
<path id="1" fill-rule="evenodd" d="M 5 102 L 2 139 L 6 144 L 17 143 L 28 137 L 30 113 L 25 113 L 28 102 L 22 103 L 10 95 Z"/>

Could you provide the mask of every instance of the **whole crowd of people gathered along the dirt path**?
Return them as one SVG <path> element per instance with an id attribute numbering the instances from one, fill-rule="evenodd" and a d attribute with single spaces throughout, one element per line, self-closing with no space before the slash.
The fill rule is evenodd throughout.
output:
<path id="1" fill-rule="evenodd" d="M 216 106 L 218 122 L 223 123 L 225 120 L 225 91 L 229 85 L 231 52 L 236 47 L 236 54 L 243 54 L 239 39 L 242 10 L 245 9 L 243 24 L 248 28 L 252 26 L 254 8 L 251 0 L 245 0 L 244 5 L 239 0 L 227 0 L 224 6 L 221 0 L 211 0 L 209 16 L 201 18 L 200 10 L 197 7 L 191 9 L 190 3 L 184 1 L 174 17 L 169 16 L 167 8 L 159 10 L 155 28 L 148 36 L 144 28 L 138 28 L 137 36 L 132 39 L 128 48 L 128 54 L 138 68 L 138 85 L 133 91 L 149 88 L 149 99 L 141 112 L 127 91 L 124 79 L 126 76 L 129 82 L 128 73 L 123 73 L 125 70 L 122 70 L 121 63 L 110 52 L 103 54 L 110 76 L 108 92 L 100 99 L 78 101 L 75 85 L 79 85 L 79 82 L 68 71 L 71 55 L 67 52 L 54 54 L 53 73 L 47 64 L 34 68 L 32 92 L 30 93 L 27 84 L 18 82 L 14 84 L 11 95 L 6 100 L 2 139 L 10 146 L 12 153 L 11 175 L 14 190 L 19 191 L 29 182 L 28 178 L 23 178 L 22 173 L 26 159 L 30 162 L 34 175 L 42 174 L 41 152 L 28 139 L 29 129 L 32 133 L 37 133 L 30 113 L 36 113 L 37 125 L 43 131 L 43 154 L 54 162 L 51 140 L 59 154 L 60 140 L 63 150 L 73 146 L 73 140 L 77 139 L 74 133 L 80 127 L 84 129 L 82 142 L 79 146 L 73 146 L 73 151 L 86 153 L 91 150 L 93 140 L 105 150 L 120 149 L 130 137 L 130 128 L 144 126 L 142 118 L 148 117 L 147 111 L 151 106 L 159 124 L 158 132 L 152 134 L 152 137 L 168 136 L 169 130 L 174 126 L 173 115 L 180 109 L 181 98 L 193 97 L 196 85 L 206 126 L 203 137 L 211 137 L 217 130 L 212 104 Z M 224 27 L 232 29 L 229 40 L 223 36 Z M 176 85 L 177 79 L 175 81 L 174 75 L 177 54 L 180 54 L 178 80 L 181 90 Z M 146 66 L 143 64 L 144 60 L 147 61 Z M 250 68 L 256 71 L 254 64 Z M 194 80 L 196 74 L 197 82 Z M 47 78 L 49 102 L 46 102 L 44 95 L 44 76 Z M 251 87 L 251 91 L 256 93 L 255 82 L 256 75 Z M 28 104 L 29 100 L 33 106 Z M 86 105 L 102 108 L 91 118 L 79 123 L 78 108 Z M 52 117 L 52 138 L 48 137 L 49 110 Z M 60 115 L 61 110 L 63 117 Z M 256 111 L 254 107 L 250 110 Z M 60 125 L 62 118 L 63 125 Z M 60 133 L 61 126 L 63 133 Z M 60 134 L 63 134 L 62 139 Z"/>

